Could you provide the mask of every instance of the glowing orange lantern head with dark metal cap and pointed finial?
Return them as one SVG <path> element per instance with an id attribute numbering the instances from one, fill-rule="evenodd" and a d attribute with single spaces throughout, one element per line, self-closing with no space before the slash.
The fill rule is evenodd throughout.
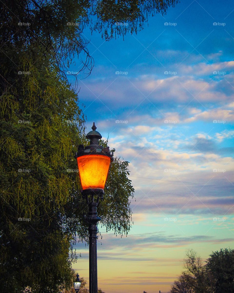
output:
<path id="1" fill-rule="evenodd" d="M 86 137 L 90 139 L 90 145 L 87 147 L 79 146 L 77 159 L 81 191 L 82 194 L 104 193 L 106 179 L 109 173 L 113 155 L 109 147 L 103 148 L 98 144 L 101 134 L 96 131 L 97 127 L 93 123 L 92 131 Z"/>

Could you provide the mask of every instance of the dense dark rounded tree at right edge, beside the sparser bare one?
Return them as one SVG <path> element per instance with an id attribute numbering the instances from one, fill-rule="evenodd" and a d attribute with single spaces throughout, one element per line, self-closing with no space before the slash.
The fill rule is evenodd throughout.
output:
<path id="1" fill-rule="evenodd" d="M 206 268 L 212 277 L 215 293 L 234 292 L 234 249 L 220 249 L 212 252 Z"/>

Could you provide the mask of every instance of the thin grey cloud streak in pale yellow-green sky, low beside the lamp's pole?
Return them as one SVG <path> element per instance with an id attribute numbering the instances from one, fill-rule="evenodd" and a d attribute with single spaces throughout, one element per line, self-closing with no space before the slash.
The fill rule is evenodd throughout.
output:
<path id="1" fill-rule="evenodd" d="M 179 231 L 179 229 L 178 229 Z M 182 230 L 181 230 L 182 231 Z M 218 239 L 215 236 L 191 235 L 181 236 L 168 234 L 165 231 L 128 234 L 125 238 L 116 237 L 113 233 L 102 235 L 102 246 L 99 248 L 99 259 L 103 260 L 125 260 L 132 262 L 168 262 L 167 259 L 156 257 L 144 257 L 139 251 L 149 251 L 154 248 L 173 248 L 192 245 L 193 243 L 225 243 L 231 242 L 234 238 Z M 84 247 L 83 244 L 76 244 L 77 249 Z M 113 248 L 116 251 L 113 251 Z M 82 257 L 87 258 L 87 253 Z"/>

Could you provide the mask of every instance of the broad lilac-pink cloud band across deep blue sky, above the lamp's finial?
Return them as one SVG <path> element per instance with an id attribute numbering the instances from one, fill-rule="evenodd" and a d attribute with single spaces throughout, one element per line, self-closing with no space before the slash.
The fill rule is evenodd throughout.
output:
<path id="1" fill-rule="evenodd" d="M 234 62 L 223 62 L 222 65 L 233 65 Z M 204 65 L 207 69 L 207 65 Z M 221 66 L 219 66 L 221 67 Z M 218 68 L 214 64 L 214 68 Z M 193 68 L 194 72 L 196 71 Z M 228 76 L 228 74 L 227 74 Z M 199 103 L 231 102 L 233 88 L 230 88 L 227 76 L 218 76 L 219 79 L 200 79 L 191 75 L 164 75 L 159 78 L 154 75 L 140 75 L 138 77 L 113 76 L 106 79 L 81 82 L 81 91 L 86 101 L 95 99 L 104 103 L 116 113 L 118 108 L 126 107 L 127 113 L 142 106 L 151 109 L 174 108 L 176 104 L 199 105 Z M 221 80 L 220 80 L 221 78 Z M 230 80 L 231 81 L 231 80 Z M 221 86 L 222 85 L 222 86 Z M 226 89 L 229 91 L 225 93 Z M 94 94 L 95 93 L 95 94 Z M 132 98 L 129 98 L 132 97 Z M 176 104 L 175 104 L 176 102 Z M 139 110 L 139 108 L 137 109 Z"/>

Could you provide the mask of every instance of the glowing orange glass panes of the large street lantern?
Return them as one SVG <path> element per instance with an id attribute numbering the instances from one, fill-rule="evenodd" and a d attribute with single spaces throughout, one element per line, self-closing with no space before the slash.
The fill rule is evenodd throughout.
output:
<path id="1" fill-rule="evenodd" d="M 82 190 L 104 189 L 111 159 L 108 156 L 89 154 L 77 158 Z"/>

